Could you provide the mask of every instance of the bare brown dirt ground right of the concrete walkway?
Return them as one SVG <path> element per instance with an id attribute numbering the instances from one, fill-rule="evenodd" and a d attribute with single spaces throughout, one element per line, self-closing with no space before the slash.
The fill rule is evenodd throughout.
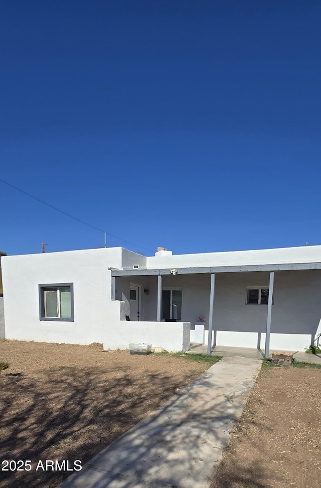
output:
<path id="1" fill-rule="evenodd" d="M 261 370 L 211 488 L 320 488 L 321 369 Z"/>

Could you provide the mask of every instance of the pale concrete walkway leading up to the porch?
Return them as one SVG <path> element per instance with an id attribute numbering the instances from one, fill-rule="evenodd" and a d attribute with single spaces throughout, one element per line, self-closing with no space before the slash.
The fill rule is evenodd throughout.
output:
<path id="1" fill-rule="evenodd" d="M 260 367 L 242 354 L 223 357 L 61 488 L 208 488 Z"/>

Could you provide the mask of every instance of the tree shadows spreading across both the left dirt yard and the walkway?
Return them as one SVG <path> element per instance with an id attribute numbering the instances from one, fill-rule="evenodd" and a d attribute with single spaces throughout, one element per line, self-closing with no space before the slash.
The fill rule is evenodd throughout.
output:
<path id="1" fill-rule="evenodd" d="M 241 415 L 243 387 L 234 393 L 231 389 L 227 394 L 225 384 L 215 386 L 218 400 L 212 402 L 213 395 L 207 391 L 213 389 L 210 381 L 213 374 L 206 372 L 202 383 L 197 378 L 178 393 L 174 401 L 171 397 L 191 381 L 191 372 L 187 371 L 183 378 L 171 377 L 170 373 L 146 372 L 142 378 L 131 373 L 114 364 L 108 372 L 98 367 L 94 371 L 85 367 L 55 367 L 44 370 L 41 377 L 32 373 L 2 377 L 6 395 L 1 399 L 0 457 L 31 460 L 33 467 L 30 472 L 1 472 L 0 488 L 53 488 L 71 474 L 42 468 L 36 471 L 37 461 L 46 459 L 69 460 L 71 467 L 78 459 L 82 465 L 89 460 L 90 464 L 106 462 L 106 469 L 121 482 L 122 488 L 131 486 L 130 477 L 119 475 L 128 471 L 128 466 L 132 466 L 146 486 L 149 480 L 180 486 L 182 469 L 192 476 L 200 472 L 203 476 L 206 472 L 211 481 L 216 469 L 214 452 L 222 453 L 229 441 L 228 432 Z M 161 410 L 153 412 L 167 400 Z M 191 408 L 190 402 L 195 400 Z M 182 418 L 180 412 L 185 410 L 188 413 Z M 148 412 L 153 413 L 140 422 L 134 433 L 127 432 Z M 164 418 L 170 421 L 164 422 Z M 175 433 L 179 432 L 177 439 L 173 439 L 174 429 Z M 122 434 L 122 439 L 118 439 Z M 153 440 L 151 457 L 146 437 Z M 103 450 L 113 441 L 113 446 Z M 133 448 L 116 450 L 120 442 Z M 213 458 L 208 455 L 208 445 L 213 450 Z M 159 471 L 159 453 L 164 446 L 169 460 L 166 469 L 163 466 Z M 86 476 L 86 469 L 82 474 Z M 87 475 L 89 480 L 92 471 L 87 470 Z M 105 473 L 98 473 L 98 484 L 103 482 L 104 476 Z M 242 473 L 242 476 L 254 482 L 261 479 L 262 474 L 259 466 L 254 466 L 253 473 Z M 262 483 L 248 483 L 247 486 L 267 488 Z"/>

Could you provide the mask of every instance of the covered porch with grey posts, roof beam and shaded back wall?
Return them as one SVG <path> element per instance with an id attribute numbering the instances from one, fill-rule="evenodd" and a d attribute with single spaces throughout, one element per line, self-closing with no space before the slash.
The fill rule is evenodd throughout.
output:
<path id="1" fill-rule="evenodd" d="M 321 312 L 320 270 L 321 263 L 111 269 L 112 300 L 125 303 L 125 315 L 132 321 L 130 287 L 136 284 L 137 322 L 182 321 L 193 330 L 202 325 L 198 319 L 205 319 L 208 354 L 217 344 L 229 346 L 234 341 L 250 344 L 258 354 L 263 349 L 268 357 L 271 335 L 274 348 L 285 350 L 303 350 L 314 341 Z M 173 290 L 181 294 L 174 296 Z"/>

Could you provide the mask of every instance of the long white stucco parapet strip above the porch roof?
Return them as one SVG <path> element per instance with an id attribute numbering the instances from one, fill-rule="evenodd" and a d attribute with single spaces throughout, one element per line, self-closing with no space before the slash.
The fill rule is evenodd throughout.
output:
<path id="1" fill-rule="evenodd" d="M 321 246 L 229 251 L 224 253 L 181 254 L 147 257 L 148 268 L 189 268 L 195 266 L 241 266 L 320 262 Z"/>

